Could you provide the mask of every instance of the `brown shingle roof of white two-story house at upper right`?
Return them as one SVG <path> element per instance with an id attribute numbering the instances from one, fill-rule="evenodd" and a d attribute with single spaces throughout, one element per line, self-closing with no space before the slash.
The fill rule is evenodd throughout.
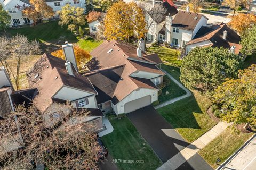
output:
<path id="1" fill-rule="evenodd" d="M 172 26 L 184 30 L 193 31 L 202 17 L 206 18 L 206 16 L 202 14 L 179 11 L 172 21 Z"/>

